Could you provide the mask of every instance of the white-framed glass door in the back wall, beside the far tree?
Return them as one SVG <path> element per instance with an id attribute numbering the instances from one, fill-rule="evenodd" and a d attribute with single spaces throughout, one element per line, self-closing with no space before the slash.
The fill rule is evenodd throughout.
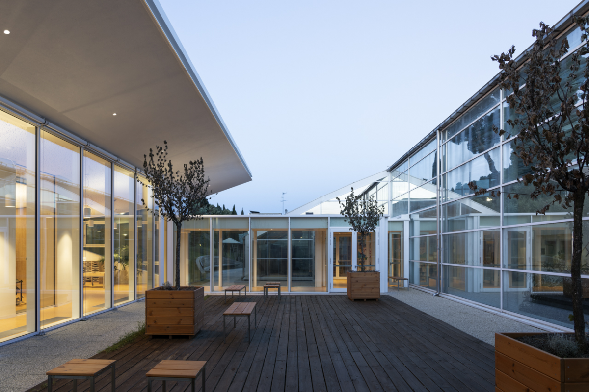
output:
<path id="1" fill-rule="evenodd" d="M 346 291 L 346 271 L 356 264 L 356 233 L 345 229 L 330 230 L 329 277 L 333 292 Z"/>

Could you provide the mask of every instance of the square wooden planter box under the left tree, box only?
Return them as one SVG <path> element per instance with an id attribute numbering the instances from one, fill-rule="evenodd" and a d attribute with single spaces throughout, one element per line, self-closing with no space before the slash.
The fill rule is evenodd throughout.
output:
<path id="1" fill-rule="evenodd" d="M 204 287 L 145 292 L 146 335 L 196 335 L 203 327 Z"/>

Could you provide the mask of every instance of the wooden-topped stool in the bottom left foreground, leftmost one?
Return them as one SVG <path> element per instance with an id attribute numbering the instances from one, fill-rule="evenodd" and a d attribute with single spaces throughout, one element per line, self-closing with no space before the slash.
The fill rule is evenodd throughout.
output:
<path id="1" fill-rule="evenodd" d="M 94 382 L 96 376 L 104 373 L 105 370 L 111 370 L 111 390 L 115 390 L 115 360 L 108 359 L 72 359 L 58 366 L 47 373 L 47 391 L 53 390 L 54 378 L 71 378 L 74 380 L 74 392 L 78 390 L 78 380 L 90 380 L 90 392 L 94 392 Z"/>

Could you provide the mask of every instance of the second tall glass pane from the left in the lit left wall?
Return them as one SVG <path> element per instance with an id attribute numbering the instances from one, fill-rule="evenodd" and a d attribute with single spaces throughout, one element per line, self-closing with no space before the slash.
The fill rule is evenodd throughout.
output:
<path id="1" fill-rule="evenodd" d="M 40 166 L 41 327 L 47 328 L 80 317 L 80 148 L 42 132 Z"/>

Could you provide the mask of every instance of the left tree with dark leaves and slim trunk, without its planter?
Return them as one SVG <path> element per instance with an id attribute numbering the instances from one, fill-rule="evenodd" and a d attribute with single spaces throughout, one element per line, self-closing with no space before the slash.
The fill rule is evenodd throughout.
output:
<path id="1" fill-rule="evenodd" d="M 168 143 L 155 146 L 155 154 L 149 150 L 149 160 L 144 155 L 143 169 L 152 189 L 154 202 L 159 207 L 154 212 L 167 222 L 176 225 L 176 290 L 180 290 L 180 229 L 188 220 L 201 219 L 201 205 L 209 196 L 209 178 L 204 178 L 203 158 L 184 163 L 184 174 L 174 172 L 172 162 L 167 158 Z M 147 207 L 145 200 L 141 199 Z"/>

